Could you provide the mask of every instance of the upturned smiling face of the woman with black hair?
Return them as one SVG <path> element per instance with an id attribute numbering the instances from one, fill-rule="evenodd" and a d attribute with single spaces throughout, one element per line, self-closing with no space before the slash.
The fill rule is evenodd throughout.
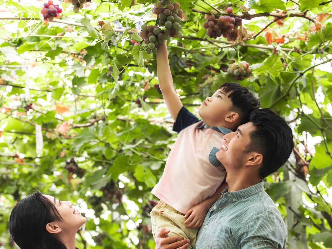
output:
<path id="1" fill-rule="evenodd" d="M 77 232 L 78 229 L 86 222 L 86 218 L 81 215 L 78 210 L 75 210 L 73 204 L 69 201 L 59 201 L 53 196 L 43 195 L 51 203 L 54 204 L 62 221 L 58 221 L 58 225 L 62 231 Z"/>

